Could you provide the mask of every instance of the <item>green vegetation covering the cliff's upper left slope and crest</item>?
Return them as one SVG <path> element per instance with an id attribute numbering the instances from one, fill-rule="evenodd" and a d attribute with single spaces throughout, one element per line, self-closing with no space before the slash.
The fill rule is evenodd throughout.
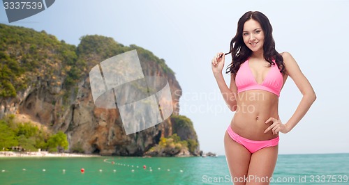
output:
<path id="1" fill-rule="evenodd" d="M 15 97 L 40 79 L 61 88 L 64 96 L 87 77 L 91 67 L 133 49 L 144 62 L 156 63 L 166 74 L 174 74 L 165 60 L 151 51 L 136 45 L 126 47 L 113 38 L 84 35 L 76 47 L 45 31 L 0 24 L 0 97 Z"/>

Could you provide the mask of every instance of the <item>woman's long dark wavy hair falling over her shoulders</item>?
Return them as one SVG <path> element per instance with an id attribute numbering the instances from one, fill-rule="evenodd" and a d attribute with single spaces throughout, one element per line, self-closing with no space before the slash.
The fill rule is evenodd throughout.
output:
<path id="1" fill-rule="evenodd" d="M 237 22 L 237 34 L 232 41 L 230 42 L 230 51 L 227 54 L 232 54 L 232 63 L 228 65 L 225 73 L 237 74 L 237 71 L 240 68 L 240 65 L 244 63 L 248 57 L 251 56 L 252 51 L 249 49 L 242 38 L 242 31 L 244 29 L 244 24 L 249 19 L 253 19 L 256 22 L 260 23 L 262 26 L 263 33 L 265 33 L 265 41 L 263 45 L 263 56 L 266 61 L 270 63 L 270 66 L 274 65 L 272 60 L 276 61 L 276 65 L 278 65 L 280 72 L 285 72 L 285 63 L 283 63 L 283 57 L 279 54 L 275 49 L 275 41 L 272 35 L 273 28 L 272 24 L 270 24 L 269 19 L 264 14 L 258 11 L 249 11 L 242 15 Z M 226 55 L 226 54 L 225 54 Z"/>

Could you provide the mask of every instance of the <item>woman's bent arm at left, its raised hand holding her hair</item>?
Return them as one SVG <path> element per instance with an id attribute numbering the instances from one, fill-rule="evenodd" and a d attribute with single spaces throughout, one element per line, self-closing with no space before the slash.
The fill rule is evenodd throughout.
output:
<path id="1" fill-rule="evenodd" d="M 224 67 L 225 55 L 223 53 L 218 53 L 212 59 L 212 72 L 214 73 L 214 78 L 217 81 L 218 88 L 221 90 L 221 94 L 223 95 L 223 99 L 225 103 L 228 105 L 231 111 L 237 110 L 237 86 L 235 84 L 235 79 L 233 75 L 230 75 L 230 87 L 228 88 L 225 80 L 223 78 L 222 70 Z"/>

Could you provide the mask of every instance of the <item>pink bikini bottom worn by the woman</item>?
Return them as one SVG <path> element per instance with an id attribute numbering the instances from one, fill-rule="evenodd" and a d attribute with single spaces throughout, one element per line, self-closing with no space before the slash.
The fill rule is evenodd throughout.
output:
<path id="1" fill-rule="evenodd" d="M 258 150 L 261 150 L 264 147 L 274 147 L 276 145 L 279 145 L 279 136 L 271 140 L 250 140 L 239 136 L 239 134 L 236 134 L 234 131 L 232 131 L 232 127 L 230 127 L 230 125 L 227 131 L 232 140 L 235 140 L 240 145 L 246 147 L 246 149 L 250 151 L 251 154 L 257 152 Z"/>

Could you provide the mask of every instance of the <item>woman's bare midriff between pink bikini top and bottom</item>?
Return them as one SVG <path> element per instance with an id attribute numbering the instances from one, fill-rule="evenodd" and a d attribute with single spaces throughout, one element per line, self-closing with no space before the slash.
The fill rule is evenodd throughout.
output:
<path id="1" fill-rule="evenodd" d="M 237 110 L 230 127 L 236 134 L 251 140 L 270 140 L 279 135 L 272 130 L 264 133 L 272 121 L 265 124 L 269 118 L 279 119 L 279 97 L 265 90 L 247 90 L 237 94 Z"/>

